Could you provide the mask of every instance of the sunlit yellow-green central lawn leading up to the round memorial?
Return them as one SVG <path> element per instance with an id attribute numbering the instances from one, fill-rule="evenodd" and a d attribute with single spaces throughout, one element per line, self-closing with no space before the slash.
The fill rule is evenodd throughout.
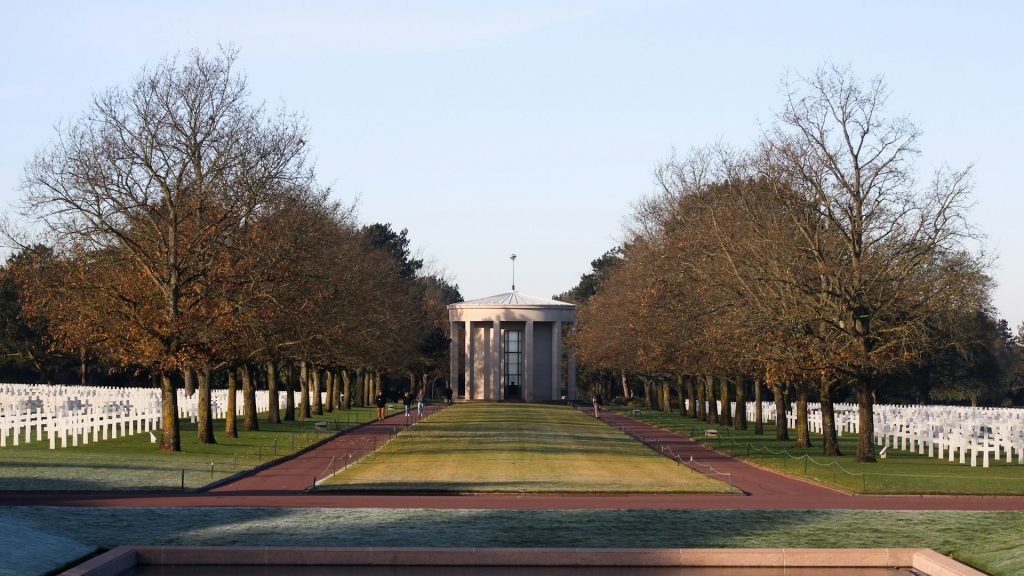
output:
<path id="1" fill-rule="evenodd" d="M 732 489 L 566 406 L 463 404 L 322 483 L 318 490 L 722 493 Z"/>

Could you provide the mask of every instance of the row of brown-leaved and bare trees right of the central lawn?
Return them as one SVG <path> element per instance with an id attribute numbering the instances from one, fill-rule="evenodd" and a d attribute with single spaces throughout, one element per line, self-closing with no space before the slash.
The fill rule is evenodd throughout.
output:
<path id="1" fill-rule="evenodd" d="M 707 400 L 742 402 L 748 382 L 758 400 L 769 386 L 781 409 L 792 386 L 803 446 L 814 394 L 828 455 L 845 386 L 860 410 L 856 458 L 873 461 L 880 386 L 991 349 L 987 260 L 965 218 L 970 170 L 919 181 L 921 132 L 887 116 L 881 80 L 825 68 L 786 86 L 751 150 L 717 146 L 657 168 L 659 194 L 636 207 L 623 247 L 594 262 L 598 289 L 585 277 L 582 294 L 565 295 L 591 294 L 573 343 L 624 382 L 669 375 L 709 412 Z M 668 386 L 649 392 L 667 405 Z"/>

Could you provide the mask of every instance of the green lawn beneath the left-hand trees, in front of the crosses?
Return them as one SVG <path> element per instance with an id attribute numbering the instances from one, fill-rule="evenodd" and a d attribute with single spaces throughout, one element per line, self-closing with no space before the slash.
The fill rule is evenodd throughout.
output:
<path id="1" fill-rule="evenodd" d="M 370 421 L 376 410 L 353 408 L 280 424 L 268 424 L 265 413 L 259 417 L 254 431 L 242 429 L 240 417 L 239 438 L 227 438 L 224 421 L 214 420 L 217 444 L 197 442 L 196 424 L 182 420 L 176 453 L 157 450 L 147 433 L 54 450 L 46 440 L 8 445 L 0 449 L 0 490 L 179 490 L 182 474 L 184 488 L 197 489 Z M 316 430 L 316 421 L 327 421 L 330 429 Z"/>

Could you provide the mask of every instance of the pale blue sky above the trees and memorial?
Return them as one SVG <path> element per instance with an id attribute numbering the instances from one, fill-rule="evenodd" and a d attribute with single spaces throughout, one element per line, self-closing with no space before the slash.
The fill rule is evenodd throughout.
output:
<path id="1" fill-rule="evenodd" d="M 304 115 L 319 181 L 409 229 L 467 298 L 574 286 L 673 154 L 752 146 L 785 75 L 883 76 L 923 183 L 973 166 L 993 301 L 1024 321 L 1024 3 L 0 0 L 0 206 L 93 93 L 239 49 L 253 102 Z"/>

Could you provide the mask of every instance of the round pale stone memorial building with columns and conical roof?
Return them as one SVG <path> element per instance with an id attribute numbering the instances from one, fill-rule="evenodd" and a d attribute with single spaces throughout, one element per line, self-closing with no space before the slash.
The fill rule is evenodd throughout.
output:
<path id="1" fill-rule="evenodd" d="M 450 304 L 452 389 L 465 400 L 575 400 L 575 359 L 568 349 L 562 378 L 562 336 L 575 305 L 513 290 Z"/>

